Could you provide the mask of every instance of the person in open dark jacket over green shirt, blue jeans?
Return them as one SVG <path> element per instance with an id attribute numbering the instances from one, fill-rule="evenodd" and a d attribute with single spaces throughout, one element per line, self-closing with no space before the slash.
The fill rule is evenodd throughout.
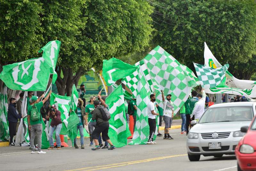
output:
<path id="1" fill-rule="evenodd" d="M 84 108 L 83 104 L 84 104 L 84 101 L 81 98 L 78 98 L 76 115 L 79 118 L 79 123 L 77 124 L 76 131 L 79 130 L 79 133 L 80 133 L 81 149 L 84 149 L 84 120 L 85 120 L 85 125 L 87 125 L 87 119 L 85 116 L 85 108 Z M 76 138 L 74 139 L 74 146 L 75 146 L 75 148 L 78 148 L 78 145 L 76 144 Z"/>

